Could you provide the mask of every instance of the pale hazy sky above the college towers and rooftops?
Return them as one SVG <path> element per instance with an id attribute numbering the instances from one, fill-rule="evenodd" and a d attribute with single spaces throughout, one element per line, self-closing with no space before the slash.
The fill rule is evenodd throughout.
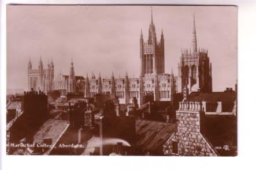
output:
<path id="1" fill-rule="evenodd" d="M 165 73 L 178 74 L 182 48 L 192 46 L 195 14 L 199 48 L 208 50 L 213 91 L 234 88 L 237 80 L 237 8 L 235 6 L 152 6 L 160 39 L 165 39 Z M 7 8 L 7 88 L 28 88 L 27 66 L 44 68 L 53 57 L 55 74 L 101 73 L 109 78 L 139 77 L 140 29 L 149 35 L 150 6 L 9 5 Z"/>

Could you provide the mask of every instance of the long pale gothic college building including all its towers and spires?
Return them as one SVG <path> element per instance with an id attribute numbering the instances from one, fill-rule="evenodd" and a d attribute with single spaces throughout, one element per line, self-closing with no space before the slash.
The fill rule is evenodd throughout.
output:
<path id="1" fill-rule="evenodd" d="M 149 36 L 144 41 L 140 33 L 140 75 L 139 77 L 112 76 L 110 78 L 98 77 L 92 72 L 91 77 L 75 75 L 75 66 L 71 62 L 70 74 L 58 74 L 54 77 L 53 61 L 47 69 L 43 69 L 42 60 L 39 69 L 32 70 L 31 61 L 28 64 L 28 87 L 49 92 L 59 90 L 61 96 L 71 93 L 82 93 L 84 97 L 94 97 L 97 94 L 110 93 L 118 97 L 120 104 L 132 103 L 133 97 L 138 100 L 139 106 L 144 103 L 146 94 L 153 94 L 154 101 L 173 101 L 175 93 L 183 94 L 195 91 L 212 92 L 212 65 L 206 50 L 197 47 L 195 17 L 192 31 L 192 52 L 183 50 L 179 62 L 179 75 L 165 73 L 165 42 L 164 33 L 161 32 L 157 40 L 153 14 L 149 26 Z"/>

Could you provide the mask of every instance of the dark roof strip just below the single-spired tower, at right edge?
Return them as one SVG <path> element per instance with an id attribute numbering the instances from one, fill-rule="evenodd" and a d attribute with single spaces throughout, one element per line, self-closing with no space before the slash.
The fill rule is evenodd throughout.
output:
<path id="1" fill-rule="evenodd" d="M 236 92 L 192 92 L 186 101 L 207 101 L 207 102 L 234 102 L 236 100 Z"/>

